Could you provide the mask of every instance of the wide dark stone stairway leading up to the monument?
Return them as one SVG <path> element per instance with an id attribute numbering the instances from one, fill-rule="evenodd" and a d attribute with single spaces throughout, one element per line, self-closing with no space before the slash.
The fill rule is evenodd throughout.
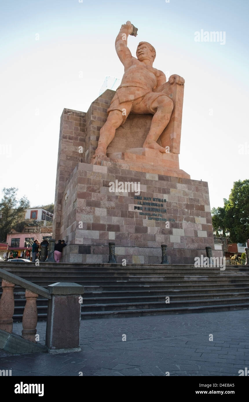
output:
<path id="1" fill-rule="evenodd" d="M 195 268 L 193 265 L 40 263 L 1 264 L 2 269 L 47 287 L 55 282 L 84 286 L 82 319 L 242 310 L 249 308 L 249 266 Z M 0 287 L 0 291 L 2 288 Z M 0 292 L 1 295 L 1 292 Z M 25 289 L 14 288 L 14 321 L 20 321 Z M 47 299 L 37 298 L 38 320 Z"/>

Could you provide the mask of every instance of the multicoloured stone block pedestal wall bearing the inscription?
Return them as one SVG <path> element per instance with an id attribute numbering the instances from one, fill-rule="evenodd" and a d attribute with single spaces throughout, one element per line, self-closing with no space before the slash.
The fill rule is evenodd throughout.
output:
<path id="1" fill-rule="evenodd" d="M 115 180 L 140 182 L 142 203 L 144 197 L 166 199 L 166 213 L 161 214 L 165 220 L 140 215 L 145 206 L 139 206 L 134 193 L 111 193 L 109 183 Z M 193 263 L 196 256 L 206 255 L 206 246 L 214 250 L 206 182 L 78 163 L 68 191 L 67 203 L 62 202 L 67 220 L 61 238 L 68 244 L 64 262 L 106 263 L 111 241 L 119 263 L 126 258 L 126 263 L 158 264 L 161 244 L 167 244 L 171 264 Z"/>

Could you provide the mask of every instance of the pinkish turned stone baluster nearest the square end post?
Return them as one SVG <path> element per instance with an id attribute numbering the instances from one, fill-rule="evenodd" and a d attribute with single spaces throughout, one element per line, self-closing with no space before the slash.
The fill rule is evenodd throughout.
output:
<path id="1" fill-rule="evenodd" d="M 26 304 L 23 312 L 23 330 L 22 338 L 36 343 L 35 334 L 37 326 L 37 293 L 29 290 L 25 291 Z"/>

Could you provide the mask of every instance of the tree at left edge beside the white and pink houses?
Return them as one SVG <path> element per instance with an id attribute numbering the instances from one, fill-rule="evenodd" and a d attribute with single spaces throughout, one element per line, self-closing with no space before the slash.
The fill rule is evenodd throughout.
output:
<path id="1" fill-rule="evenodd" d="M 0 202 L 0 241 L 5 242 L 8 232 L 23 221 L 25 209 L 29 208 L 30 203 L 26 197 L 20 200 L 16 198 L 18 189 L 10 187 L 4 188 L 4 196 Z"/>

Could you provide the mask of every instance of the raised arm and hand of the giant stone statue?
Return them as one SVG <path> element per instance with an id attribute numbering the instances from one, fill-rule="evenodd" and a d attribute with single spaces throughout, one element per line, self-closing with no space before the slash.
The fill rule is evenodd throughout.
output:
<path id="1" fill-rule="evenodd" d="M 117 55 L 125 68 L 130 67 L 132 61 L 132 53 L 127 46 L 127 39 L 134 31 L 134 27 L 130 21 L 123 24 L 120 28 L 119 34 L 116 37 L 115 49 Z M 136 35 L 135 35 L 136 36 Z"/>

